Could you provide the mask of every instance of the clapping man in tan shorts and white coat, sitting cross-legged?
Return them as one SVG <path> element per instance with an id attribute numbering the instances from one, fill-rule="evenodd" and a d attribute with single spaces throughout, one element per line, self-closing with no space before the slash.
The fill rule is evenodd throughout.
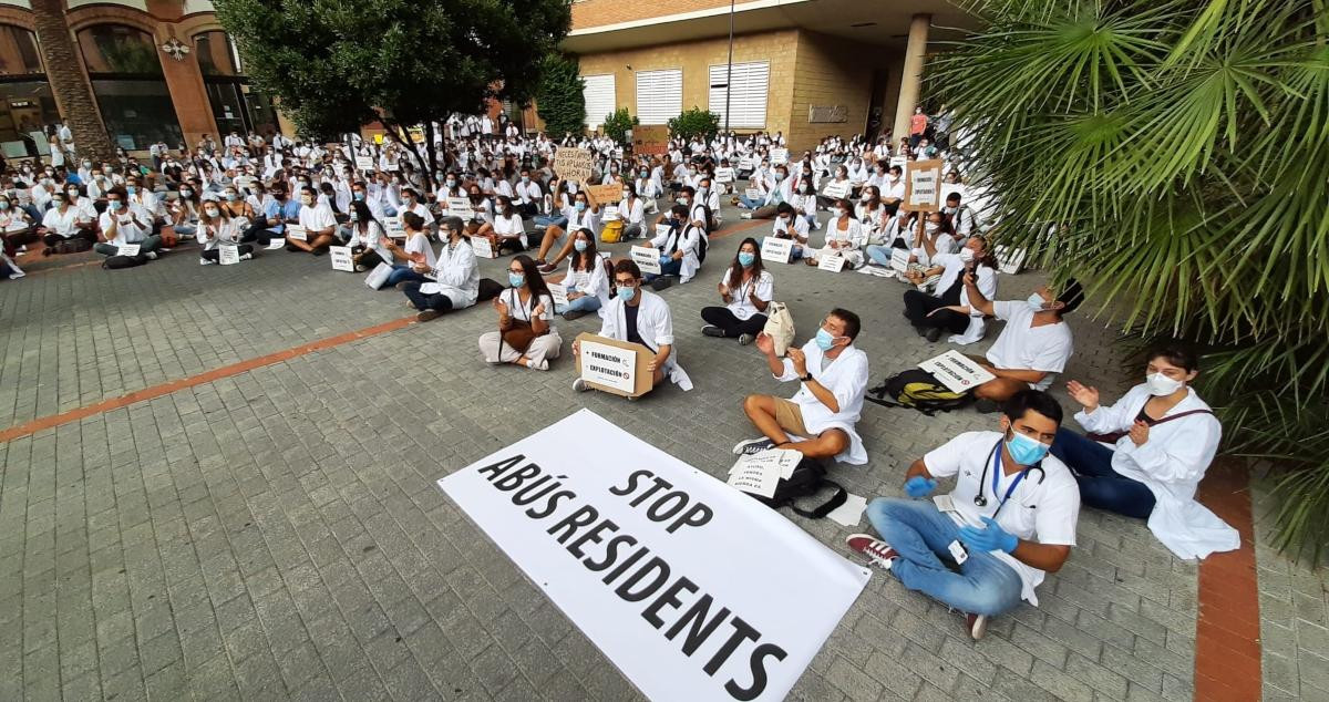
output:
<path id="1" fill-rule="evenodd" d="M 771 375 L 799 392 L 785 400 L 772 395 L 748 395 L 743 412 L 763 433 L 734 447 L 735 453 L 760 453 L 781 447 L 809 459 L 835 457 L 841 463 L 868 463 L 855 423 L 863 413 L 868 388 L 868 355 L 853 346 L 859 315 L 835 308 L 821 320 L 817 335 L 803 348 L 791 348 L 784 359 L 775 355 L 775 339 L 762 334 L 756 347 L 766 355 Z"/>

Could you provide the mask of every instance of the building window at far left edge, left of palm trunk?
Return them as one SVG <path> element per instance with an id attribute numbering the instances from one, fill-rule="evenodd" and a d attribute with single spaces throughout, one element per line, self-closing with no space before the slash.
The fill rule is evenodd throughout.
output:
<path id="1" fill-rule="evenodd" d="M 36 35 L 0 24 L 0 153 L 5 158 L 49 153 L 45 130 L 58 121 Z"/>

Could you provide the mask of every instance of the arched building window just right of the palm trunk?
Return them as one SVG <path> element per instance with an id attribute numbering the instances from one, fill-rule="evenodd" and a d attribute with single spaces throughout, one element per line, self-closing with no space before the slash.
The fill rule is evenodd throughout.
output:
<path id="1" fill-rule="evenodd" d="M 150 35 L 122 24 L 98 24 L 78 32 L 78 48 L 116 145 L 134 150 L 158 141 L 174 148 L 183 141 Z"/>

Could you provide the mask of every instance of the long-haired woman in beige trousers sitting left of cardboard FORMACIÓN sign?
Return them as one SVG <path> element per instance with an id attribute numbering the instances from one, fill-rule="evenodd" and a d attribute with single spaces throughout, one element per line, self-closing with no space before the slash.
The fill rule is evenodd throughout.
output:
<path id="1" fill-rule="evenodd" d="M 480 352 L 493 366 L 512 363 L 548 371 L 563 346 L 553 324 L 554 296 L 526 254 L 508 262 L 508 286 L 493 302 L 498 328 L 480 335 Z"/>

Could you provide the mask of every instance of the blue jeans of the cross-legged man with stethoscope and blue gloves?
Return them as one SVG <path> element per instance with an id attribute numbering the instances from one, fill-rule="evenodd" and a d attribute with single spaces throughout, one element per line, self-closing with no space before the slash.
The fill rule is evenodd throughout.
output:
<path id="1" fill-rule="evenodd" d="M 960 526 L 932 500 L 877 497 L 868 504 L 868 520 L 900 557 L 890 565 L 900 582 L 970 614 L 1001 614 L 1019 604 L 1019 573 L 991 553 L 969 553 L 960 573 L 938 554 L 960 538 Z"/>

